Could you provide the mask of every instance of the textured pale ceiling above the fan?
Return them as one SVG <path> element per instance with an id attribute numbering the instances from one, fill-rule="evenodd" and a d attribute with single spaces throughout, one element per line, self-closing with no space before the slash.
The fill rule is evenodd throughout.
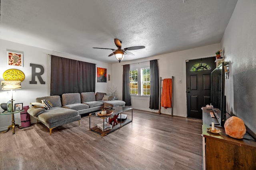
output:
<path id="1" fill-rule="evenodd" d="M 117 63 L 220 43 L 237 0 L 1 0 L 0 39 Z"/>

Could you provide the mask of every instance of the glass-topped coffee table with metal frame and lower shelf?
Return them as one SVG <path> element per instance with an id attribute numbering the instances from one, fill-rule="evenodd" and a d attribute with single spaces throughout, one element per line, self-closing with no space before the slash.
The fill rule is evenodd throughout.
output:
<path id="1" fill-rule="evenodd" d="M 124 112 L 126 113 L 123 114 Z M 112 112 L 111 115 L 100 116 L 98 115 L 98 113 L 101 113 L 101 111 L 89 114 L 89 129 L 90 131 L 98 133 L 102 136 L 106 136 L 109 133 L 119 129 L 120 127 L 132 122 L 132 108 L 130 107 L 122 107 L 122 106 L 114 107 L 114 111 Z M 109 127 L 108 121 L 109 119 L 114 117 L 114 115 L 116 116 L 118 115 L 118 118 L 116 120 L 118 124 L 113 125 L 112 127 Z M 97 122 L 98 124 L 94 127 L 91 127 L 91 123 L 95 123 L 95 122 Z M 100 129 L 99 126 L 101 126 L 102 129 Z"/>

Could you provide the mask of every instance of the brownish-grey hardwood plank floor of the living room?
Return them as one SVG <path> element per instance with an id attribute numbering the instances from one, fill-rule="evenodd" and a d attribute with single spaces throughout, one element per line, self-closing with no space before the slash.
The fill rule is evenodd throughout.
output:
<path id="1" fill-rule="evenodd" d="M 89 130 L 89 116 L 51 136 L 35 123 L 0 133 L 0 169 L 201 170 L 201 133 L 202 120 L 135 109 L 131 123 L 104 137 Z"/>

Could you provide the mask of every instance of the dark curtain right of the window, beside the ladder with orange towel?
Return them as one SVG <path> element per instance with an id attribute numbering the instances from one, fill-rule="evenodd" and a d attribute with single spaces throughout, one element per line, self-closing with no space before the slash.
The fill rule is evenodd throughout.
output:
<path id="1" fill-rule="evenodd" d="M 159 73 L 157 60 L 150 61 L 150 109 L 159 109 Z"/>

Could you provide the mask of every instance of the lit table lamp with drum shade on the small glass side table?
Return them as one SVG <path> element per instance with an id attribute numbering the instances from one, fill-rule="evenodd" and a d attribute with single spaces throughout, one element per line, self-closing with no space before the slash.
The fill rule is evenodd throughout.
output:
<path id="1" fill-rule="evenodd" d="M 1 87 L 2 87 L 2 90 L 17 90 L 17 89 L 21 89 L 21 81 L 16 81 L 16 80 L 12 80 L 12 81 L 1 81 Z M 12 106 L 7 107 L 9 108 L 8 111 L 11 111 L 13 112 L 14 109 L 13 109 L 13 93 L 12 93 L 12 98 L 10 100 Z M 11 110 L 10 110 L 11 109 Z"/>

